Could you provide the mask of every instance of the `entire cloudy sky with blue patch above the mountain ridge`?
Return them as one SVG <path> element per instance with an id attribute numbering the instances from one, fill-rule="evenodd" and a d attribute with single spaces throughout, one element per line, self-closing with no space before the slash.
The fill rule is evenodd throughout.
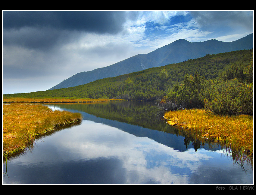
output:
<path id="1" fill-rule="evenodd" d="M 178 39 L 236 41 L 253 11 L 2 11 L 3 94 L 45 91 Z"/>

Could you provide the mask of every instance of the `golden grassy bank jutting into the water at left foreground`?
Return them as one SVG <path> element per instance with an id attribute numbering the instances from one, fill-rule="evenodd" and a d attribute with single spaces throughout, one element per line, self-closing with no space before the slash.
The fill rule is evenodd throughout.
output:
<path id="1" fill-rule="evenodd" d="M 3 155 L 29 146 L 38 135 L 55 127 L 82 120 L 80 113 L 55 110 L 29 103 L 3 104 Z"/>

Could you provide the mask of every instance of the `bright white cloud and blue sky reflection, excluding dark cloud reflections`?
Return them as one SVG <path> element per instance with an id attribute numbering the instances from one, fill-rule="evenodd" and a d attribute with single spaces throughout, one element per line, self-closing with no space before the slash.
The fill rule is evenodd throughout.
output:
<path id="1" fill-rule="evenodd" d="M 125 183 L 186 184 L 189 174 L 201 167 L 201 161 L 213 158 L 204 150 L 179 152 L 147 137 L 135 137 L 92 121 L 83 121 L 72 131 L 72 139 L 70 136 L 61 136 L 61 140 L 53 138 L 61 150 L 72 151 L 68 159 L 119 159 L 125 169 Z"/>

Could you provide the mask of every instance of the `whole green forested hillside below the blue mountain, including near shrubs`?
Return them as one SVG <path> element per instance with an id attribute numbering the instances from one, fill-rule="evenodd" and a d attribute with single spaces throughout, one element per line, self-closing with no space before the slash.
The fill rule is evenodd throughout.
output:
<path id="1" fill-rule="evenodd" d="M 218 114 L 252 114 L 253 50 L 239 50 L 96 80 L 85 85 L 3 97 L 157 98 Z"/>

